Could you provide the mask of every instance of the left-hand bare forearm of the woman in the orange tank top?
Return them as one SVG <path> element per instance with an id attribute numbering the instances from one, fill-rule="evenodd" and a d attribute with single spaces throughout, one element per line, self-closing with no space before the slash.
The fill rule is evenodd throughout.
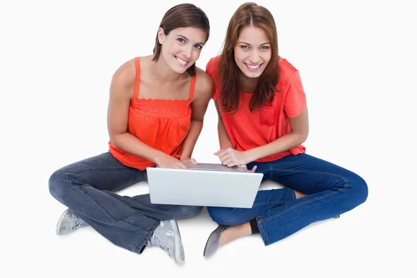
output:
<path id="1" fill-rule="evenodd" d="M 129 132 L 113 136 L 113 138 L 111 138 L 111 142 L 124 152 L 140 156 L 148 161 L 152 161 L 153 163 L 156 163 L 158 158 L 165 154 L 157 149 L 154 149 L 153 147 L 149 147 Z"/>

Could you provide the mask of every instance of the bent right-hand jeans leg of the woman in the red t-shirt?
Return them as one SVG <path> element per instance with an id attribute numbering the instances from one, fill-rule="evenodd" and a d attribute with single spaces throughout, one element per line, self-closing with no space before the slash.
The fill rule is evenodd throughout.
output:
<path id="1" fill-rule="evenodd" d="M 368 197 L 368 186 L 359 175 L 308 154 L 274 161 L 272 179 L 308 196 L 270 208 L 256 217 L 265 245 L 313 222 L 350 211 Z"/>

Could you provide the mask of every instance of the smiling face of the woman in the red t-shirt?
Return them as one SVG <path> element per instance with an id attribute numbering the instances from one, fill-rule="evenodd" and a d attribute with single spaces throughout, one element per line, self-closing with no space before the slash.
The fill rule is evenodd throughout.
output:
<path id="1" fill-rule="evenodd" d="M 234 47 L 234 58 L 245 76 L 261 76 L 271 60 L 271 44 L 265 31 L 254 26 L 243 28 Z"/>

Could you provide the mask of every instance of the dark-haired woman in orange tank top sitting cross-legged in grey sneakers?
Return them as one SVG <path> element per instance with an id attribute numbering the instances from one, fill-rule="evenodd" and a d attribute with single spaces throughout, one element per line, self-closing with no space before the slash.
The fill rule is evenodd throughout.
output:
<path id="1" fill-rule="evenodd" d="M 68 207 L 56 226 L 67 234 L 89 224 L 115 245 L 141 254 L 158 246 L 184 261 L 174 219 L 199 206 L 151 204 L 149 194 L 116 190 L 147 179 L 146 168 L 186 168 L 213 92 L 213 81 L 195 67 L 210 33 L 206 14 L 192 4 L 165 13 L 154 54 L 127 61 L 113 75 L 108 102 L 109 152 L 67 165 L 49 179 L 49 191 Z"/>

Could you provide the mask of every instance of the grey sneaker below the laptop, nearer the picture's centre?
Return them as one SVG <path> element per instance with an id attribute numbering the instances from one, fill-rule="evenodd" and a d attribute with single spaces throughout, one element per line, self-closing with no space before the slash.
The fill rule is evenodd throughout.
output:
<path id="1" fill-rule="evenodd" d="M 177 263 L 183 263 L 185 259 L 184 248 L 179 234 L 176 220 L 161 221 L 156 228 L 147 246 L 158 246 L 168 252 Z"/>

